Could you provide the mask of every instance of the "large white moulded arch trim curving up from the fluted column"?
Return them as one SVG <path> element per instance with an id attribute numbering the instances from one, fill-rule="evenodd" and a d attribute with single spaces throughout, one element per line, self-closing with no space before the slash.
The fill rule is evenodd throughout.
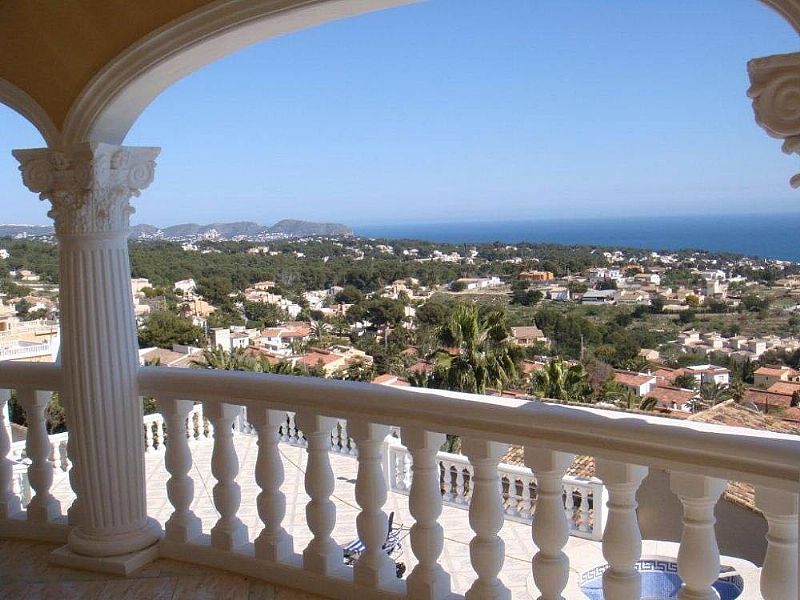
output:
<path id="1" fill-rule="evenodd" d="M 63 142 L 120 144 L 162 91 L 201 67 L 270 37 L 420 0 L 228 0 L 145 36 L 103 67 L 67 115 Z M 800 0 L 759 0 L 800 31 Z"/>

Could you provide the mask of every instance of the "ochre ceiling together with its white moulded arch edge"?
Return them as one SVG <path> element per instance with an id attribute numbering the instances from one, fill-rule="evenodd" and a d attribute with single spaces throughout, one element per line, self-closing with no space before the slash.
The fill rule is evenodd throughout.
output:
<path id="1" fill-rule="evenodd" d="M 0 102 L 50 145 L 121 143 L 175 81 L 245 46 L 419 0 L 0 2 Z M 665 0 L 666 1 L 666 0 Z M 800 31 L 800 0 L 760 0 Z"/>

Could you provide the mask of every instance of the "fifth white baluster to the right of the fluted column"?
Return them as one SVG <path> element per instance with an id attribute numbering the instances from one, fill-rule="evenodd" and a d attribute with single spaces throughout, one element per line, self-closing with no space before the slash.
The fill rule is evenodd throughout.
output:
<path id="1" fill-rule="evenodd" d="M 359 448 L 356 502 L 361 512 L 356 517 L 356 527 L 358 539 L 365 546 L 356 561 L 353 578 L 367 587 L 385 587 L 396 579 L 394 561 L 383 550 L 389 525 L 383 512 L 386 481 L 381 462 L 389 427 L 362 420 L 351 421 L 350 427 Z"/>

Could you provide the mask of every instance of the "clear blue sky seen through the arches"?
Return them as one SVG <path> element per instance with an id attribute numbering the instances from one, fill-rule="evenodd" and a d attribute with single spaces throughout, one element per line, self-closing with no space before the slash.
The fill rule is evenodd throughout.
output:
<path id="1" fill-rule="evenodd" d="M 748 59 L 798 50 L 756 0 L 430 0 L 269 40 L 163 93 L 134 222 L 348 224 L 800 211 Z M 2 222 L 46 223 L 0 107 Z"/>

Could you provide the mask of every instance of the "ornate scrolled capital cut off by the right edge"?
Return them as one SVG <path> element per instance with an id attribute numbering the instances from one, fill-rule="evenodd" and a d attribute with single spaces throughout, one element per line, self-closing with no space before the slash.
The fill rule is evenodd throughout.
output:
<path id="1" fill-rule="evenodd" d="M 747 63 L 756 123 L 784 140 L 786 154 L 800 154 L 800 53 L 755 58 Z M 791 179 L 800 187 L 800 174 Z"/>

